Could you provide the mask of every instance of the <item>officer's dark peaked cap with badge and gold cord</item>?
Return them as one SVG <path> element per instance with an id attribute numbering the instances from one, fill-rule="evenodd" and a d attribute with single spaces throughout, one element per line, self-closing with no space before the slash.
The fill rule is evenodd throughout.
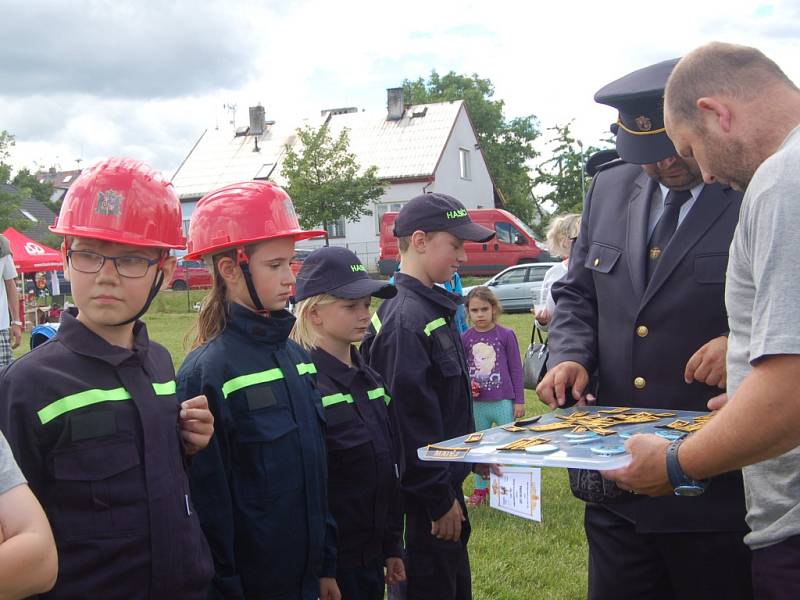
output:
<path id="1" fill-rule="evenodd" d="M 628 73 L 601 88 L 594 100 L 619 111 L 611 126 L 625 162 L 643 165 L 677 154 L 664 129 L 664 87 L 678 58 Z"/>

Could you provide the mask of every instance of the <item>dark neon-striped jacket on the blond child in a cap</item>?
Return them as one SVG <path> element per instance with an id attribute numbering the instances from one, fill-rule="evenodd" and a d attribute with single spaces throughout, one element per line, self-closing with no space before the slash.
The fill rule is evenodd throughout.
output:
<path id="1" fill-rule="evenodd" d="M 352 367 L 320 348 L 311 352 L 328 424 L 328 501 L 338 565 L 369 567 L 401 556 L 401 446 L 383 379 L 355 347 L 350 355 Z"/>

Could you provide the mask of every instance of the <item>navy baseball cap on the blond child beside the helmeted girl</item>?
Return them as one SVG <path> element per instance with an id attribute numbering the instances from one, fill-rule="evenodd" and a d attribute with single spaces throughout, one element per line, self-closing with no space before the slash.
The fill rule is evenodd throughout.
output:
<path id="1" fill-rule="evenodd" d="M 296 302 L 320 294 L 348 300 L 365 296 L 386 299 L 397 294 L 391 283 L 367 275 L 358 257 L 341 246 L 325 246 L 309 254 L 297 274 L 296 289 Z"/>

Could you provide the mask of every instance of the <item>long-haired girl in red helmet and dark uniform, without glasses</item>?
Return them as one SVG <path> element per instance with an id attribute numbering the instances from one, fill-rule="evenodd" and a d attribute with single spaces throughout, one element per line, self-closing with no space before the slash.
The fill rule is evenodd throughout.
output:
<path id="1" fill-rule="evenodd" d="M 187 258 L 206 260 L 213 287 L 178 395 L 206 395 L 217 425 L 190 470 L 211 598 L 341 598 L 316 368 L 285 310 L 295 241 L 321 235 L 265 181 L 210 192 L 192 214 Z"/>

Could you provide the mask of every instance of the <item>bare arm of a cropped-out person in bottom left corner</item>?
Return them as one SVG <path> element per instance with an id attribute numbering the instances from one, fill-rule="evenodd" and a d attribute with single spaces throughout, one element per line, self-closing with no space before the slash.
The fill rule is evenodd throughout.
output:
<path id="1" fill-rule="evenodd" d="M 25 598 L 50 590 L 58 557 L 50 524 L 27 485 L 0 496 L 0 600 Z"/>

